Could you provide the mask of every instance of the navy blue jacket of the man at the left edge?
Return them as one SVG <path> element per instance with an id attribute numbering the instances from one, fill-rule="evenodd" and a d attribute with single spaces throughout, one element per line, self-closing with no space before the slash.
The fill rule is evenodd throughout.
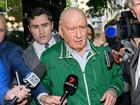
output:
<path id="1" fill-rule="evenodd" d="M 5 68 L 8 70 L 8 88 L 10 88 L 15 70 L 21 74 L 22 79 L 31 72 L 23 59 L 22 48 L 19 46 L 4 40 L 0 43 L 0 56 Z M 41 84 L 39 84 L 37 87 L 32 89 L 32 96 L 36 98 L 42 92 L 45 92 L 45 89 Z"/>

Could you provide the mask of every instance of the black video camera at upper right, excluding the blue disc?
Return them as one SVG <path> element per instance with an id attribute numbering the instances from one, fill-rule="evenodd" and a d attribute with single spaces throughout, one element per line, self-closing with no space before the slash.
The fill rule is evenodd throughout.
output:
<path id="1" fill-rule="evenodd" d="M 117 24 L 117 30 L 121 39 L 140 37 L 140 23 L 133 16 L 131 11 L 121 12 L 121 17 Z"/>

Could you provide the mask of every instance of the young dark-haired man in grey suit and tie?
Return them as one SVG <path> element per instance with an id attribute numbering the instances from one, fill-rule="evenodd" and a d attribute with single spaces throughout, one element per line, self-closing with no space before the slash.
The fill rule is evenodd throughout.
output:
<path id="1" fill-rule="evenodd" d="M 52 31 L 52 15 L 44 8 L 31 9 L 27 18 L 33 42 L 24 51 L 24 58 L 31 70 L 34 71 L 38 68 L 37 73 L 42 77 L 45 69 L 40 64 L 40 56 L 43 51 L 57 43 L 60 40 L 60 36 Z"/>

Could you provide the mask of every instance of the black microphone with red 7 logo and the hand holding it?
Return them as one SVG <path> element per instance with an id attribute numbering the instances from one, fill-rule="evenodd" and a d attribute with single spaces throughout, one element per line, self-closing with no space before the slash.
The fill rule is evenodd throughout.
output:
<path id="1" fill-rule="evenodd" d="M 69 75 L 64 82 L 64 93 L 62 97 L 60 96 L 42 96 L 40 101 L 44 105 L 64 105 L 66 103 L 65 99 L 69 95 L 73 95 L 78 87 L 78 77 L 74 74 Z"/>

